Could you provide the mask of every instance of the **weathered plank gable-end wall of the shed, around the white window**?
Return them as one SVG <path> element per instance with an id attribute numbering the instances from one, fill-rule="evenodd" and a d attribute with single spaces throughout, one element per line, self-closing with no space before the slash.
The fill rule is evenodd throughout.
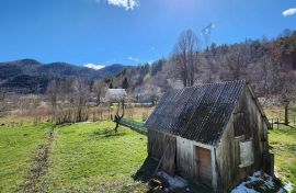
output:
<path id="1" fill-rule="evenodd" d="M 262 167 L 263 154 L 267 154 L 265 124 L 260 110 L 248 87 L 246 87 L 234 114 L 231 115 L 217 149 L 219 168 L 218 185 L 224 192 L 229 192 L 247 175 Z M 252 139 L 253 164 L 240 168 L 240 147 L 242 140 Z"/>

